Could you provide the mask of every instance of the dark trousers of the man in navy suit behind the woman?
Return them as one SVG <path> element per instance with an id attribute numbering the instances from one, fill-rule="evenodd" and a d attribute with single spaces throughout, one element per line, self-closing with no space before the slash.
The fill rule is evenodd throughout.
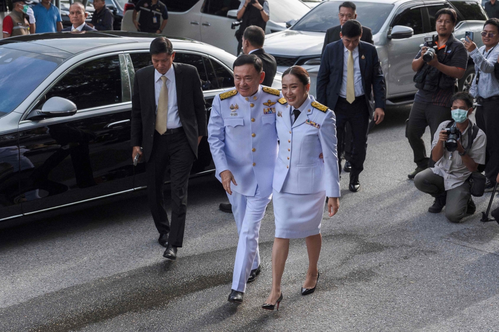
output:
<path id="1" fill-rule="evenodd" d="M 367 151 L 367 132 L 369 130 L 369 109 L 365 97 L 359 96 L 350 104 L 345 98 L 339 97 L 334 108 L 336 115 L 336 137 L 338 139 L 338 156 L 343 152 L 345 126 L 350 124 L 352 129 L 351 155 L 349 158 L 352 170 L 350 177 L 357 176 L 364 170 L 364 161 Z M 341 172 L 341 158 L 338 158 Z"/>

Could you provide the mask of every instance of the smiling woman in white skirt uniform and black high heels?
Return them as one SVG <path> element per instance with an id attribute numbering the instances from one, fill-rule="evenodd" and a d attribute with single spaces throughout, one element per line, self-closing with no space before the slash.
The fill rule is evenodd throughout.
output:
<path id="1" fill-rule="evenodd" d="M 282 75 L 282 95 L 275 105 L 279 153 L 272 181 L 275 239 L 272 290 L 262 308 L 279 308 L 280 283 L 289 239 L 305 238 L 308 271 L 301 294 L 315 291 L 319 279 L 321 235 L 326 195 L 329 216 L 339 208 L 340 186 L 334 113 L 308 94 L 310 77 L 300 66 Z M 270 107 L 270 106 L 269 106 Z M 321 158 L 323 157 L 323 158 Z"/>

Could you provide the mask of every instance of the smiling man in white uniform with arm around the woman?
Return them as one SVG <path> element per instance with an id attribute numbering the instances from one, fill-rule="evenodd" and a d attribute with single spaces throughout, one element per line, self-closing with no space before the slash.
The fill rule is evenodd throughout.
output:
<path id="1" fill-rule="evenodd" d="M 260 272 L 258 232 L 272 195 L 277 158 L 275 104 L 279 91 L 261 86 L 265 73 L 253 54 L 234 62 L 236 89 L 215 97 L 208 142 L 216 176 L 232 204 L 239 233 L 229 301 L 243 302 L 248 279 Z"/>

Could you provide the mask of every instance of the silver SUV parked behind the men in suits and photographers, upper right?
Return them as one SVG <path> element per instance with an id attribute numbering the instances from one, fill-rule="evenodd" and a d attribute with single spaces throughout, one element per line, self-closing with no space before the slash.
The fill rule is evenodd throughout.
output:
<path id="1" fill-rule="evenodd" d="M 265 51 L 277 61 L 282 72 L 292 65 L 301 65 L 311 76 L 311 93 L 320 65 L 325 31 L 338 21 L 342 1 L 324 1 L 310 10 L 293 26 L 265 36 Z M 454 35 L 460 39 L 465 31 L 474 31 L 475 42 L 481 46 L 480 32 L 487 14 L 475 0 L 355 0 L 357 19 L 370 27 L 386 81 L 387 106 L 412 103 L 417 92 L 411 62 L 426 36 L 435 34 L 435 13 L 445 7 L 456 9 L 458 22 Z M 475 76 L 470 58 L 459 89 L 468 90 Z"/>

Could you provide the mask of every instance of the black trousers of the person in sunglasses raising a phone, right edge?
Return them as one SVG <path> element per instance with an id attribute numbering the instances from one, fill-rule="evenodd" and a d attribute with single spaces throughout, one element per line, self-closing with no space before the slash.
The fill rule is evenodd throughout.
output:
<path id="1" fill-rule="evenodd" d="M 499 173 L 499 100 L 481 102 L 475 117 L 477 126 L 487 135 L 485 176 L 495 182 Z"/>

